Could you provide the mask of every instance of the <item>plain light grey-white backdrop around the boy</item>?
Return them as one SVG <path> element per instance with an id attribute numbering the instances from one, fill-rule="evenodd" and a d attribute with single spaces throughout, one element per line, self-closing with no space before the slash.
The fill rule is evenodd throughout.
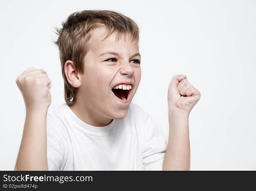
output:
<path id="1" fill-rule="evenodd" d="M 16 78 L 30 66 L 64 103 L 54 26 L 85 9 L 114 10 L 140 28 L 142 78 L 134 103 L 168 136 L 167 91 L 184 73 L 201 99 L 189 117 L 191 170 L 256 170 L 255 1 L 1 1 L 1 162 L 13 170 L 25 105 Z"/>

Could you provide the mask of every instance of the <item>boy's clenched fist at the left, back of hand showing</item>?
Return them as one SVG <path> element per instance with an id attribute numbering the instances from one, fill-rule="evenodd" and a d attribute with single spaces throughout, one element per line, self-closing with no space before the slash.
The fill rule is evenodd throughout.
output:
<path id="1" fill-rule="evenodd" d="M 51 79 L 44 69 L 30 67 L 16 79 L 26 108 L 48 108 L 51 105 Z"/>

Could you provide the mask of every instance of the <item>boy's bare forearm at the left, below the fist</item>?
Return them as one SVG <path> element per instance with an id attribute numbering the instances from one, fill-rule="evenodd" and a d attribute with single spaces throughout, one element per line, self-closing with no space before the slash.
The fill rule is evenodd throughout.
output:
<path id="1" fill-rule="evenodd" d="M 26 109 L 26 120 L 15 170 L 48 170 L 47 108 Z"/>

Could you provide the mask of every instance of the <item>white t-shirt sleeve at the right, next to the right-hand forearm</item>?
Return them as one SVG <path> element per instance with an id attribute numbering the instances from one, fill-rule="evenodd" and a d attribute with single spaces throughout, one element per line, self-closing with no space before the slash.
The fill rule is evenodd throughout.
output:
<path id="1" fill-rule="evenodd" d="M 154 119 L 145 114 L 145 134 L 143 145 L 144 170 L 162 170 L 168 138 Z"/>

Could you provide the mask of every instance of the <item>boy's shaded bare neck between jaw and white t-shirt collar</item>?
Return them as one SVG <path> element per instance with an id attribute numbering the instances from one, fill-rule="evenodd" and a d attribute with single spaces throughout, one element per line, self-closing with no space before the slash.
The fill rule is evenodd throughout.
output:
<path id="1" fill-rule="evenodd" d="M 69 105 L 73 113 L 84 123 L 95 127 L 104 127 L 109 125 L 113 119 L 103 117 L 99 111 L 91 109 L 86 101 L 76 99 L 73 105 Z"/>

